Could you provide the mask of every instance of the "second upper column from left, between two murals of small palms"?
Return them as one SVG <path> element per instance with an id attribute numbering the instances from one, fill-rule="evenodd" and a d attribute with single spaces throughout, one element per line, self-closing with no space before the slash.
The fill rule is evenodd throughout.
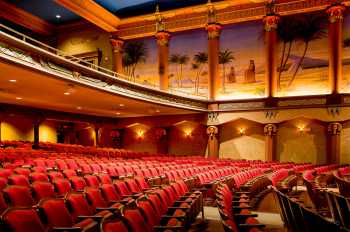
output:
<path id="1" fill-rule="evenodd" d="M 158 74 L 159 88 L 161 90 L 169 89 L 169 41 L 170 33 L 159 31 L 155 35 L 158 46 Z"/>

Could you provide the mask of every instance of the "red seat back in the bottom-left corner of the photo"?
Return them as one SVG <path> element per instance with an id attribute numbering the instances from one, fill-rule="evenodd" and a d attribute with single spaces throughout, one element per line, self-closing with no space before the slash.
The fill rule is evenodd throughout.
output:
<path id="1" fill-rule="evenodd" d="M 9 208 L 2 215 L 5 231 L 47 232 L 37 212 L 32 208 Z"/>

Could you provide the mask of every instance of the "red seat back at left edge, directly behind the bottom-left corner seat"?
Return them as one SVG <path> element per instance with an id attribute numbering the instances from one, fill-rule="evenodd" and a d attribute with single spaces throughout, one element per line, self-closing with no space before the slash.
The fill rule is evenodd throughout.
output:
<path id="1" fill-rule="evenodd" d="M 9 185 L 3 190 L 6 199 L 14 207 L 31 207 L 35 204 L 29 187 Z"/>

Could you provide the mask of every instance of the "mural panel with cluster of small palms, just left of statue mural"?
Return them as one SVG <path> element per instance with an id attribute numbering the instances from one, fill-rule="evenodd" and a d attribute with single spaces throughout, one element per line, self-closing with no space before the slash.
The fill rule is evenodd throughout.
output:
<path id="1" fill-rule="evenodd" d="M 170 88 L 208 95 L 208 41 L 205 30 L 173 35 L 169 48 Z"/>

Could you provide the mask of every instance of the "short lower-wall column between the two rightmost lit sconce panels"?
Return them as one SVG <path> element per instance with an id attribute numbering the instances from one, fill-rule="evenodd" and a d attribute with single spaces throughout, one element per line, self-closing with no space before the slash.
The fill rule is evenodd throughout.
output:
<path id="1" fill-rule="evenodd" d="M 265 134 L 265 161 L 276 160 L 276 134 L 277 126 L 275 124 L 266 124 Z"/>

